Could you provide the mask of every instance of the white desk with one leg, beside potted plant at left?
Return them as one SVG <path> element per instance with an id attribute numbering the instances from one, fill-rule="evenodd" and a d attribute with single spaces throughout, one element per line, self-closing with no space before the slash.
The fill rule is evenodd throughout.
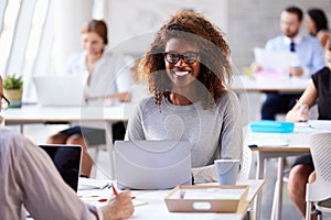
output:
<path id="1" fill-rule="evenodd" d="M 127 121 L 132 110 L 131 103 L 113 107 L 43 107 L 39 105 L 23 106 L 4 111 L 6 124 L 19 124 L 21 133 L 28 123 L 77 123 L 90 128 L 104 128 L 107 134 L 113 133 L 113 122 Z M 106 135 L 110 158 L 114 158 L 113 135 Z M 114 160 L 111 160 L 111 163 Z M 114 165 L 110 175 L 114 175 Z"/>

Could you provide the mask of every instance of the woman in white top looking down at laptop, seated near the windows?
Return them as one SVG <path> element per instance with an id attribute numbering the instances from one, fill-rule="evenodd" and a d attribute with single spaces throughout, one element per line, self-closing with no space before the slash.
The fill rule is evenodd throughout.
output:
<path id="1" fill-rule="evenodd" d="M 86 79 L 85 99 L 93 102 L 97 99 L 116 99 L 129 101 L 131 78 L 129 72 L 121 70 L 125 66 L 124 57 L 119 54 L 106 52 L 107 25 L 104 21 L 92 20 L 82 29 L 82 44 L 84 52 L 74 55 L 70 61 L 66 74 L 81 75 Z M 82 131 L 83 130 L 83 131 Z M 122 123 L 113 125 L 115 132 L 125 134 Z M 119 131 L 120 130 L 120 131 Z M 74 144 L 84 148 L 82 176 L 89 176 L 92 158 L 86 152 L 88 136 L 105 136 L 104 129 L 73 127 L 49 138 L 49 144 Z M 120 139 L 115 136 L 114 140 Z"/>

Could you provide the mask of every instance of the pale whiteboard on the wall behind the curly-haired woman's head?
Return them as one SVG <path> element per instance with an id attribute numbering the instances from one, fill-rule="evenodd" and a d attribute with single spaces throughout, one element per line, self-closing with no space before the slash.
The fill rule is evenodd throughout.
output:
<path id="1" fill-rule="evenodd" d="M 110 46 L 121 44 L 126 52 L 143 53 L 153 37 L 150 33 L 180 10 L 202 12 L 223 31 L 227 30 L 227 0 L 111 0 L 107 19 Z M 142 35 L 146 40 L 139 37 Z"/>

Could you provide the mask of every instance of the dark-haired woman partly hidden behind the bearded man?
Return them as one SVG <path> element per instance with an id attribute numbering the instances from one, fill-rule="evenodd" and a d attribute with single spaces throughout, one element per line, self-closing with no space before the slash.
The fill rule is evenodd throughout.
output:
<path id="1" fill-rule="evenodd" d="M 316 36 L 325 47 L 331 32 L 328 26 L 328 18 L 321 9 L 309 9 L 307 11 L 307 29 L 309 34 Z"/>

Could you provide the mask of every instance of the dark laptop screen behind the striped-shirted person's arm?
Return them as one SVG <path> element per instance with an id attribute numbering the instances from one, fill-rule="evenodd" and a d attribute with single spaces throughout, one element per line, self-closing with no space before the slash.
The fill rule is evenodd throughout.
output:
<path id="1" fill-rule="evenodd" d="M 75 191 L 77 191 L 81 172 L 82 147 L 79 145 L 57 144 L 45 144 L 39 146 L 49 154 L 63 180 Z"/>

